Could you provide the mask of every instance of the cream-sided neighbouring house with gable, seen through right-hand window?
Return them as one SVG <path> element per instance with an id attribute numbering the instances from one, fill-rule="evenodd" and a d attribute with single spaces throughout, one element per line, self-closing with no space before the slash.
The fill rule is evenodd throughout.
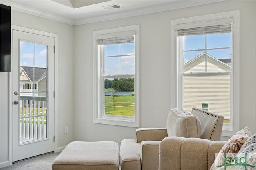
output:
<path id="1" fill-rule="evenodd" d="M 205 72 L 205 53 L 184 64 L 184 73 Z M 207 55 L 207 72 L 230 72 L 231 59 L 216 59 Z M 187 76 L 184 77 L 184 110 L 192 107 L 219 113 L 230 119 L 229 76 Z M 202 88 L 200 84 L 208 88 Z M 218 84 L 218 86 L 216 85 Z M 222 88 L 219 88 L 219 86 Z M 221 108 L 221 110 L 220 110 Z M 220 113 L 221 112 L 221 113 Z"/>

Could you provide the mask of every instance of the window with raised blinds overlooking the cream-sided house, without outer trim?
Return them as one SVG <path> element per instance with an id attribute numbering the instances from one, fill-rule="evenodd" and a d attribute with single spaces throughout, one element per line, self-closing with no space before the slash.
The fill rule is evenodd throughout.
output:
<path id="1" fill-rule="evenodd" d="M 230 122 L 232 23 L 178 29 L 180 87 L 185 111 L 193 107 L 223 115 Z"/>

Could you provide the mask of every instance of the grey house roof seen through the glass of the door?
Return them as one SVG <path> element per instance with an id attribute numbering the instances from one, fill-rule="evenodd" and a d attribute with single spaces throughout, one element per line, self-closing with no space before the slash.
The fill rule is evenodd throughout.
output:
<path id="1" fill-rule="evenodd" d="M 22 68 L 24 70 L 24 72 L 27 74 L 28 78 L 30 79 L 30 81 L 35 81 L 35 82 L 39 82 L 40 80 L 42 80 L 44 77 L 46 77 L 47 75 L 47 69 L 46 68 L 40 68 L 40 67 L 27 67 L 27 66 L 21 66 L 20 68 Z M 35 70 L 35 75 L 33 78 L 33 68 Z"/>

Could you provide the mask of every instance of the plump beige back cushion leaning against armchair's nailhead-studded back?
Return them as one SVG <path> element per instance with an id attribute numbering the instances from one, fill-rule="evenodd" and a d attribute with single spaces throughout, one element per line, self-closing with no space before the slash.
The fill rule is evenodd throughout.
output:
<path id="1" fill-rule="evenodd" d="M 201 134 L 201 123 L 198 117 L 179 108 L 169 111 L 166 125 L 168 137 L 200 137 Z"/>

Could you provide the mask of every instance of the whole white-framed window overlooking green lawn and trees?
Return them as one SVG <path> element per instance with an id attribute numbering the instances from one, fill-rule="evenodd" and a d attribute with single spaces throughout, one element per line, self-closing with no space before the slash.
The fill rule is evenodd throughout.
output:
<path id="1" fill-rule="evenodd" d="M 139 126 L 138 25 L 94 31 L 94 123 Z"/>

